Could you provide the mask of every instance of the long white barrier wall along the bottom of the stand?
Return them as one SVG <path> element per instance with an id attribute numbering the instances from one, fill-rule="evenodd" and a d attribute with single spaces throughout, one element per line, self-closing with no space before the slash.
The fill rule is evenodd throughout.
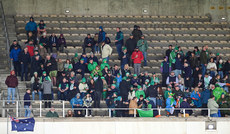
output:
<path id="1" fill-rule="evenodd" d="M 217 130 L 205 130 L 207 118 L 59 118 L 35 119 L 35 131 L 26 134 L 230 134 L 230 119 L 216 120 Z M 9 124 L 9 134 L 11 124 Z M 7 134 L 7 119 L 0 119 Z"/>

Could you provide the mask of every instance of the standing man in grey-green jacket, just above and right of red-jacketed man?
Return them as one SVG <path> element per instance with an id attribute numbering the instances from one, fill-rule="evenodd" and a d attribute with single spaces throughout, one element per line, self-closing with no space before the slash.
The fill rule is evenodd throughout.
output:
<path id="1" fill-rule="evenodd" d="M 139 47 L 140 51 L 142 52 L 144 56 L 144 66 L 147 66 L 147 49 L 148 49 L 148 44 L 147 41 L 145 40 L 145 36 L 142 35 L 141 39 L 137 42 L 137 46 Z"/>

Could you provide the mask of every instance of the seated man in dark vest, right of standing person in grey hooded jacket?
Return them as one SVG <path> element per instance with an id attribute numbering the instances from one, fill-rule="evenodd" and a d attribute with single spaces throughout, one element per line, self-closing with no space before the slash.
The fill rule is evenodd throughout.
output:
<path id="1" fill-rule="evenodd" d="M 59 100 L 67 100 L 68 97 L 68 89 L 69 89 L 69 84 L 66 80 L 66 78 L 63 78 L 62 83 L 59 84 L 58 86 L 58 99 Z"/>

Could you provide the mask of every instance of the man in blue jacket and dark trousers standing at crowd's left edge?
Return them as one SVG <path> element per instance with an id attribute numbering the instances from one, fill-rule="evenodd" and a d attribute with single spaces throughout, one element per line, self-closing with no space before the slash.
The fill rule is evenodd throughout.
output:
<path id="1" fill-rule="evenodd" d="M 16 76 L 20 76 L 20 62 L 18 60 L 20 52 L 21 49 L 18 48 L 18 46 L 14 46 L 14 48 L 10 52 L 10 59 L 13 61 Z"/>

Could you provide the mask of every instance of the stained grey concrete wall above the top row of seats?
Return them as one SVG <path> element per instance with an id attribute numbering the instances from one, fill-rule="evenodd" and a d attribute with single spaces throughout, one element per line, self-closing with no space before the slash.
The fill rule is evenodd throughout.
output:
<path id="1" fill-rule="evenodd" d="M 5 13 L 83 15 L 206 15 L 230 18 L 230 0 L 2 0 Z"/>

